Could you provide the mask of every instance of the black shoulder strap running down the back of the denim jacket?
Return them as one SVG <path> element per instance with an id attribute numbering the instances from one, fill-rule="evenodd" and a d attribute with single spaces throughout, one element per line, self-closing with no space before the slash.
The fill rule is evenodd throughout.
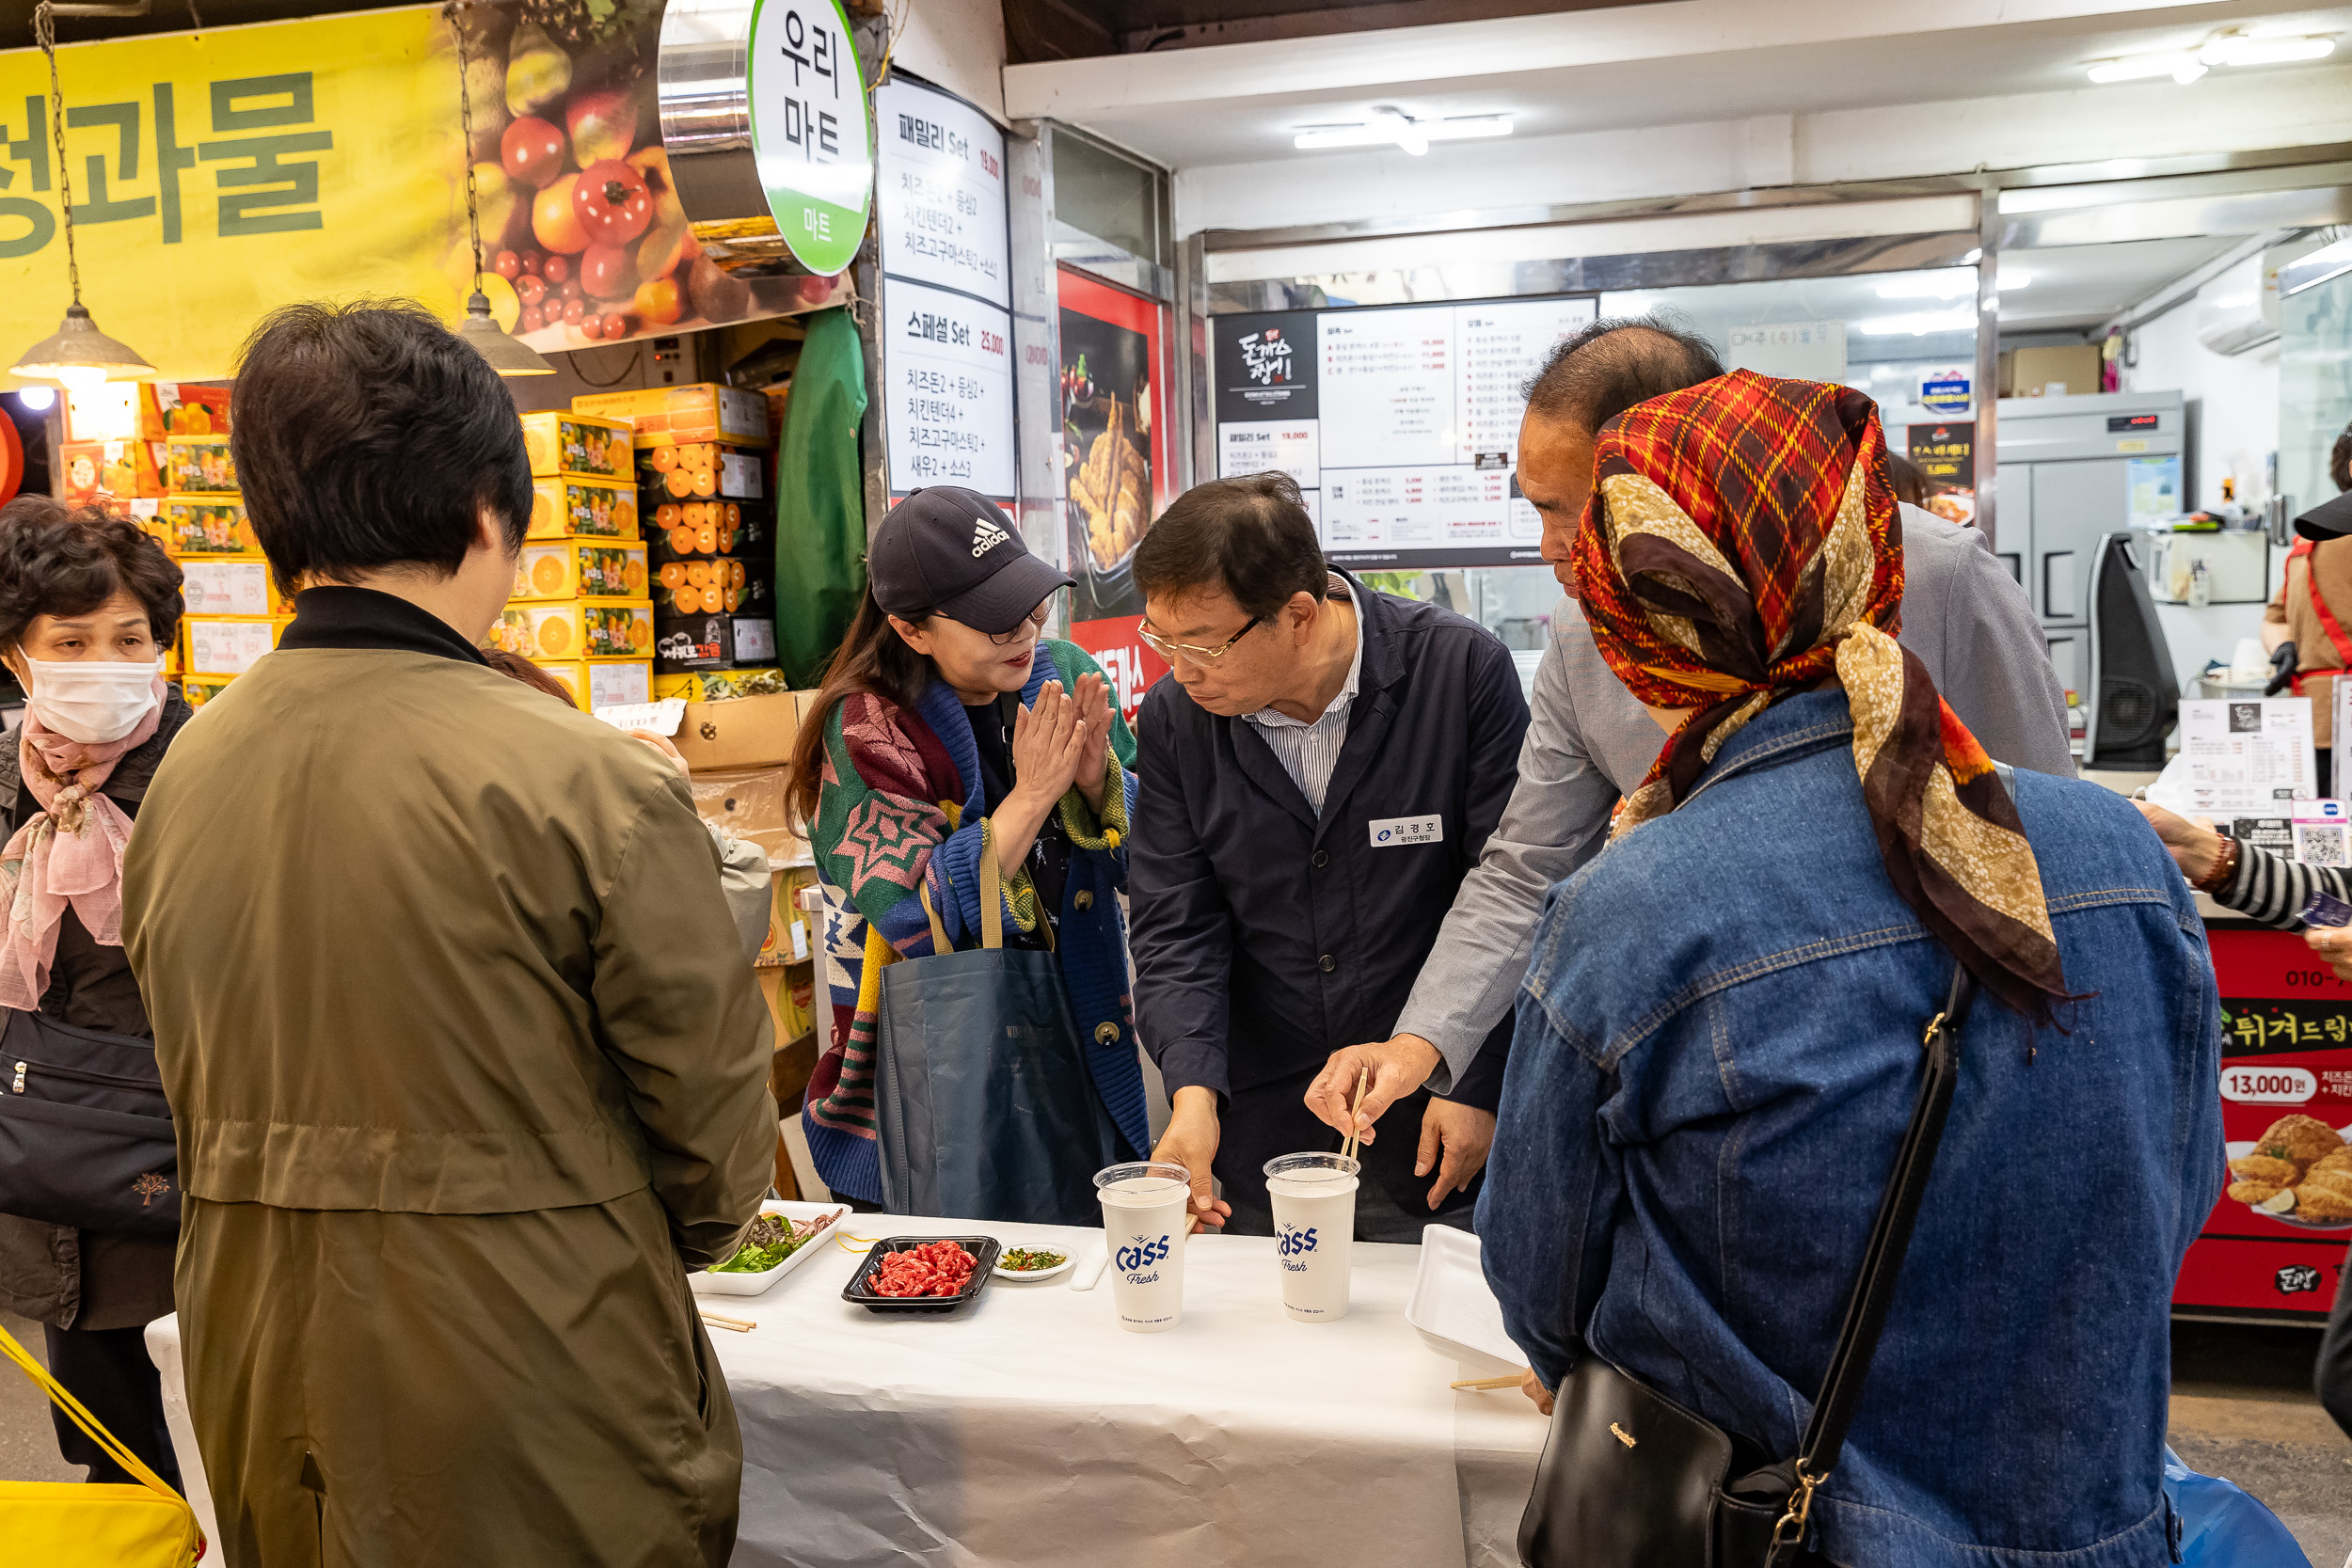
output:
<path id="1" fill-rule="evenodd" d="M 1903 1276 L 1903 1255 L 1910 1251 L 1912 1227 L 1919 1220 L 1919 1201 L 1936 1171 L 1943 1124 L 1952 1112 L 1952 1091 L 1959 1086 L 1959 1030 L 1969 1023 L 1973 1004 L 1976 976 L 1964 964 L 1952 964 L 1952 990 L 1945 994 L 1943 1011 L 1929 1020 L 1922 1041 L 1926 1063 L 1919 1098 L 1912 1100 L 1910 1126 L 1903 1128 L 1903 1143 L 1896 1150 L 1896 1168 L 1879 1197 L 1879 1215 L 1870 1225 L 1863 1272 L 1846 1300 L 1846 1321 L 1837 1331 L 1837 1349 L 1830 1354 L 1830 1373 L 1820 1380 L 1813 1420 L 1806 1422 L 1804 1441 L 1797 1443 L 1797 1490 L 1790 1493 L 1788 1512 L 1773 1526 L 1771 1566 L 1790 1561 L 1804 1544 L 1813 1488 L 1830 1479 L 1830 1469 L 1846 1446 L 1846 1429 L 1853 1425 L 1853 1408 L 1863 1399 L 1870 1359 L 1879 1349 L 1879 1333 L 1886 1328 L 1886 1312 L 1893 1307 L 1896 1284 Z"/>

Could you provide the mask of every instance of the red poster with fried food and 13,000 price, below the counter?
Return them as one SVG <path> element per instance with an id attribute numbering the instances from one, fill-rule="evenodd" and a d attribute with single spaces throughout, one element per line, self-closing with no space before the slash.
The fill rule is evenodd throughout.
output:
<path id="1" fill-rule="evenodd" d="M 2324 1321 L 2352 1246 L 2352 985 L 2291 931 L 2216 926 L 2230 1185 L 2173 1291 L 2197 1316 Z"/>

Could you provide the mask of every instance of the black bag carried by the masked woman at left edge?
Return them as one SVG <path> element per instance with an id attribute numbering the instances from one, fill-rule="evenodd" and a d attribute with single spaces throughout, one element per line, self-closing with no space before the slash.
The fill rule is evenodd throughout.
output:
<path id="1" fill-rule="evenodd" d="M 179 1145 L 153 1041 L 7 1011 L 0 1213 L 73 1229 L 179 1234 Z"/>

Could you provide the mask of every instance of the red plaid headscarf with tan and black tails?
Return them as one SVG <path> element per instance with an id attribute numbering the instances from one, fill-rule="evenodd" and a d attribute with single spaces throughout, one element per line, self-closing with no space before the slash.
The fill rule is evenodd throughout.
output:
<path id="1" fill-rule="evenodd" d="M 1875 404 L 1731 371 L 1611 418 L 1576 581 L 1592 637 L 1651 708 L 1696 708 L 1616 835 L 1682 804 L 1748 719 L 1844 682 L 1853 766 L 1896 891 L 1978 983 L 2065 997 L 2042 872 L 1992 759 L 1896 642 L 1903 517 Z"/>

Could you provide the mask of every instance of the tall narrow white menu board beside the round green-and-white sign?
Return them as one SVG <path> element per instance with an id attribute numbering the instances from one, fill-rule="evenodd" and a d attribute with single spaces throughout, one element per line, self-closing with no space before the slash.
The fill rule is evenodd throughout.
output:
<path id="1" fill-rule="evenodd" d="M 889 491 L 1016 494 L 1004 132 L 946 92 L 875 89 Z"/>

